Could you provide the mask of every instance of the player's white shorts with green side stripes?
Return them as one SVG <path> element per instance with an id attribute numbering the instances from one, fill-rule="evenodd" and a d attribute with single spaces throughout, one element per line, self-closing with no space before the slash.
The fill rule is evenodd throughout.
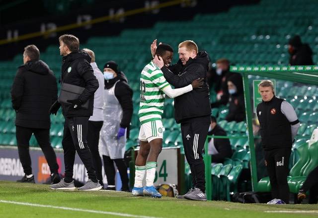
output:
<path id="1" fill-rule="evenodd" d="M 162 138 L 163 126 L 161 120 L 154 120 L 141 125 L 138 137 L 140 141 L 150 143 L 154 139 Z"/>

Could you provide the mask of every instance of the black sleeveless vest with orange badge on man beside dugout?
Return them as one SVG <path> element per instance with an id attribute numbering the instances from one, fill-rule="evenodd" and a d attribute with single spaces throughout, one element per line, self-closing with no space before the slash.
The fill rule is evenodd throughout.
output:
<path id="1" fill-rule="evenodd" d="M 291 124 L 281 111 L 284 99 L 274 96 L 256 107 L 264 150 L 292 146 Z"/>

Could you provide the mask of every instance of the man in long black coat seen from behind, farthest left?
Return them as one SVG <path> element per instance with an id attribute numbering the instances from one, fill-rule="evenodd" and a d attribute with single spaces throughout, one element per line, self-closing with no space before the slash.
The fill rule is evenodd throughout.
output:
<path id="1" fill-rule="evenodd" d="M 50 106 L 57 99 L 58 89 L 55 75 L 39 58 L 40 51 L 35 45 L 24 48 L 24 65 L 18 68 L 11 88 L 12 107 L 16 111 L 16 141 L 25 173 L 17 182 L 34 183 L 29 153 L 33 133 L 49 164 L 52 182 L 58 183 L 59 165 L 50 144 L 49 114 Z"/>

